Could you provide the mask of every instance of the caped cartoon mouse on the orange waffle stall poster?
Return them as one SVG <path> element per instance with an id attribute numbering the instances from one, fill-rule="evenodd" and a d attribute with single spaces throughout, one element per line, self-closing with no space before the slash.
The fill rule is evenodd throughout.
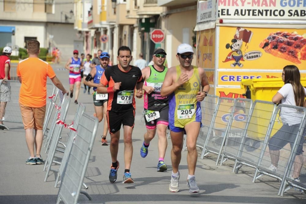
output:
<path id="1" fill-rule="evenodd" d="M 230 43 L 227 43 L 225 46 L 226 49 L 230 48 L 232 51 L 227 55 L 226 59 L 223 62 L 235 60 L 235 62 L 230 65 L 231 67 L 235 67 L 236 65 L 238 65 L 239 67 L 243 67 L 243 64 L 240 63 L 240 60 L 244 61 L 242 57 L 241 46 L 242 40 L 233 39 L 231 45 Z"/>

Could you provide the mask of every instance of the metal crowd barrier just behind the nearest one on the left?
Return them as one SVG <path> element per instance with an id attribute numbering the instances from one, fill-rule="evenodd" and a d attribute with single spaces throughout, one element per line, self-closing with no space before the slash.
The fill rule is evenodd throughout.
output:
<path id="1" fill-rule="evenodd" d="M 84 113 L 85 111 L 85 106 L 81 103 L 79 103 L 77 109 L 76 109 L 76 113 L 74 115 L 74 119 L 73 119 L 73 128 L 77 129 L 78 125 L 79 125 L 79 121 L 80 121 L 80 118 L 82 116 L 82 114 Z M 62 161 L 60 162 L 61 165 L 59 167 L 59 171 L 58 171 L 58 174 L 57 174 L 57 177 L 55 179 L 55 185 L 54 185 L 54 188 L 57 187 L 58 183 L 59 183 L 59 179 L 61 177 L 61 175 L 63 174 L 63 171 L 64 171 L 64 168 L 65 168 L 65 164 L 67 162 L 67 159 L 68 159 L 68 156 L 69 156 L 69 153 L 71 151 L 71 148 L 72 148 L 72 145 L 73 145 L 73 141 L 74 141 L 74 137 L 76 136 L 76 132 L 73 131 L 73 130 L 70 130 L 69 132 L 69 137 L 68 137 L 68 142 L 66 144 L 66 148 L 65 148 L 65 152 L 64 152 L 64 155 L 63 155 L 63 158 L 62 158 Z M 83 184 L 84 185 L 84 184 Z M 84 187 L 87 189 L 88 187 L 86 185 L 84 185 Z"/>

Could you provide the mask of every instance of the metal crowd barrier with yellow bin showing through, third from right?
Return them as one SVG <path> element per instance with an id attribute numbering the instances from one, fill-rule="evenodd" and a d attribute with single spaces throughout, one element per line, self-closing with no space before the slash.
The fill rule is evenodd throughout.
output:
<path id="1" fill-rule="evenodd" d="M 237 153 L 233 168 L 234 173 L 239 171 L 242 164 L 256 168 L 264 140 L 270 134 L 268 130 L 272 124 L 272 116 L 275 111 L 276 105 L 274 103 L 255 100 Z"/>

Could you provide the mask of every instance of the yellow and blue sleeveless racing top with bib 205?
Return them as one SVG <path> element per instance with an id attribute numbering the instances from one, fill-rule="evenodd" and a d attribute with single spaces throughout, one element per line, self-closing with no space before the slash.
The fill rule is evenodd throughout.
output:
<path id="1" fill-rule="evenodd" d="M 180 66 L 176 66 L 177 79 L 181 75 Z M 201 122 L 201 105 L 196 100 L 197 93 L 201 90 L 201 80 L 198 67 L 193 66 L 190 79 L 169 97 L 169 124 L 175 127 L 185 127 L 186 124 Z"/>

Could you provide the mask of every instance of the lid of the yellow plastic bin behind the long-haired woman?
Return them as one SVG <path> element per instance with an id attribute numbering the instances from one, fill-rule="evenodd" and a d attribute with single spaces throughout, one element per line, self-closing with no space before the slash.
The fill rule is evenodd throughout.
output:
<path id="1" fill-rule="evenodd" d="M 306 87 L 306 77 L 301 77 L 301 84 Z M 270 78 L 270 79 L 245 79 L 241 81 L 241 89 L 249 86 L 250 90 L 256 88 L 281 88 L 284 85 L 282 78 Z"/>

